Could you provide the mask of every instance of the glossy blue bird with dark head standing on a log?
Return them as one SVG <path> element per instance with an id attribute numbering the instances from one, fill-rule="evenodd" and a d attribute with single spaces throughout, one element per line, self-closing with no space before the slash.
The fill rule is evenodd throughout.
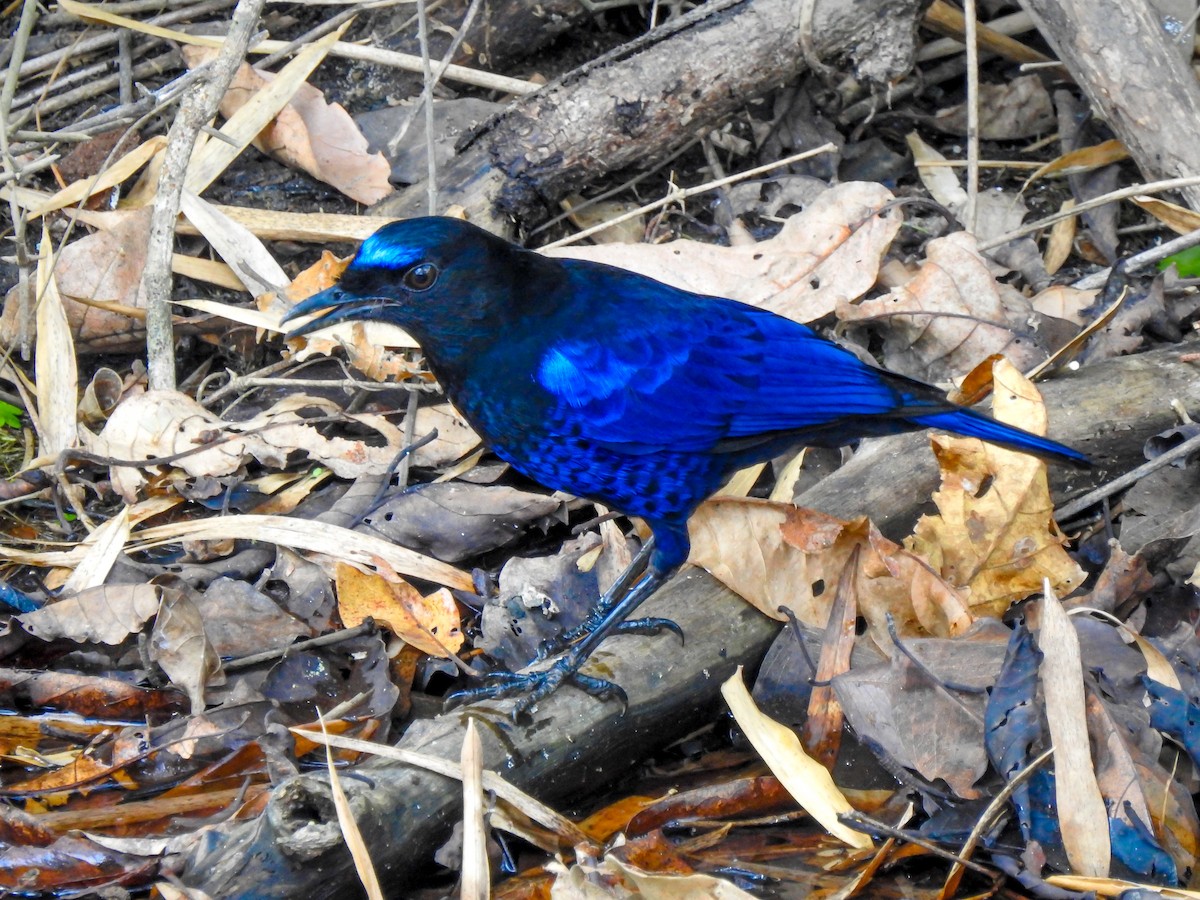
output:
<path id="1" fill-rule="evenodd" d="M 668 619 L 626 618 L 686 560 L 692 510 L 745 466 L 798 445 L 918 428 L 1088 464 L 791 319 L 607 265 L 548 259 L 455 218 L 377 230 L 337 284 L 287 319 L 317 312 L 325 314 L 290 334 L 344 320 L 400 325 L 497 456 L 650 527 L 653 540 L 564 635 L 548 668 L 494 673 L 458 695 L 523 694 L 514 715 L 564 682 L 624 696 L 580 667 L 610 634 L 678 631 Z"/>

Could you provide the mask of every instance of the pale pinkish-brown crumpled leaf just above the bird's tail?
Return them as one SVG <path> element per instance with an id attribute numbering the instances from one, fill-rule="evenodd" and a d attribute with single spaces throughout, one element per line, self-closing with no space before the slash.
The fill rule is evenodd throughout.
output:
<path id="1" fill-rule="evenodd" d="M 1003 353 L 1021 370 L 1045 359 L 1045 350 L 1024 335 L 1028 300 L 996 282 L 974 238 L 965 232 L 938 238 L 930 241 L 926 254 L 907 284 L 838 308 L 844 322 L 876 317 L 887 322 L 883 362 L 888 368 L 950 380 L 994 353 Z"/>

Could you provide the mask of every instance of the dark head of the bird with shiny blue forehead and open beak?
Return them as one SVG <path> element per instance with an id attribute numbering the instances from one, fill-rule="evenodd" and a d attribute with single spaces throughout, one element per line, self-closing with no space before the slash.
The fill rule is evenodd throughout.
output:
<path id="1" fill-rule="evenodd" d="M 479 335 L 494 336 L 512 314 L 512 288 L 532 256 L 458 218 L 391 222 L 362 242 L 336 284 L 298 304 L 283 322 L 324 312 L 288 337 L 338 322 L 388 322 L 431 359 L 451 356 Z"/>

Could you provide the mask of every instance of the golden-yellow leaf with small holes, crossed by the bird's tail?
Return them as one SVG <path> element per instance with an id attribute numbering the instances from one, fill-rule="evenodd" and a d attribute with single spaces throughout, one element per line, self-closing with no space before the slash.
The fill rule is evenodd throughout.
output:
<path id="1" fill-rule="evenodd" d="M 1045 433 L 1037 389 L 1008 362 L 994 370 L 995 414 Z M 938 515 L 923 516 L 905 546 L 953 584 L 974 616 L 1000 616 L 1042 589 L 1070 593 L 1084 571 L 1063 548 L 1054 522 L 1045 463 L 974 438 L 934 437 L 942 486 Z"/>

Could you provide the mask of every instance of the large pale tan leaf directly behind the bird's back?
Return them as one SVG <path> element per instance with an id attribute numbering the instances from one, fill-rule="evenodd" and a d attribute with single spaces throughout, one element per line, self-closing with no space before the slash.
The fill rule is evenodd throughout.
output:
<path id="1" fill-rule="evenodd" d="M 678 240 L 559 247 L 547 256 L 617 265 L 684 290 L 810 322 L 874 287 L 900 229 L 894 209 L 878 215 L 893 199 L 882 185 L 850 181 L 820 194 L 774 238 L 748 247 Z"/>

